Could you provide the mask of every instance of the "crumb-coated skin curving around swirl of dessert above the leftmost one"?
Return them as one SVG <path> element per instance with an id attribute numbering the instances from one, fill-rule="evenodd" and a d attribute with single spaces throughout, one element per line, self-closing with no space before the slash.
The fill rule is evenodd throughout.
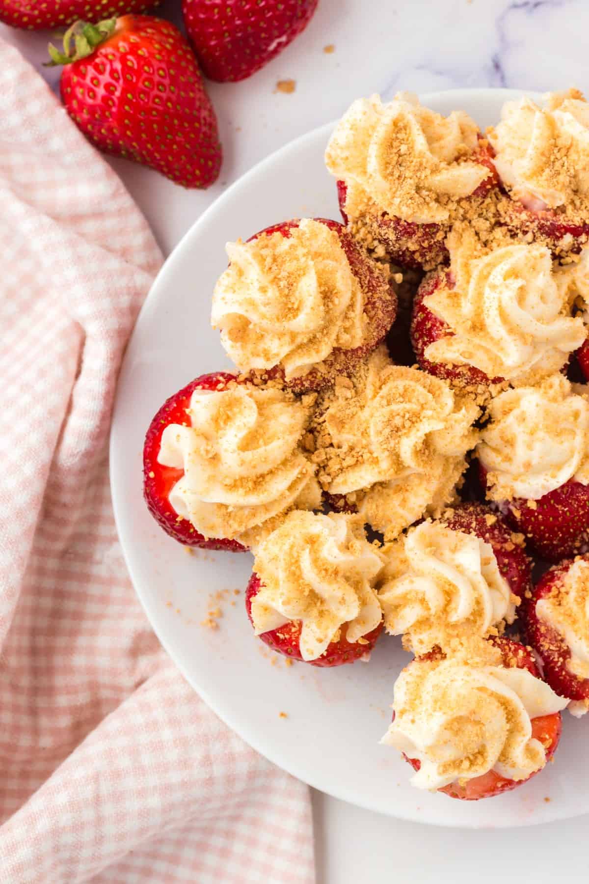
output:
<path id="1" fill-rule="evenodd" d="M 285 381 L 284 384 L 296 393 L 321 390 L 332 384 L 337 375 L 349 375 L 359 362 L 372 353 L 374 347 L 384 340 L 396 318 L 397 299 L 394 287 L 381 276 L 381 273 L 374 267 L 374 263 L 360 251 L 344 225 L 329 218 L 314 218 L 314 220 L 336 231 L 339 237 L 351 271 L 359 279 L 362 292 L 366 297 L 365 313 L 368 317 L 368 331 L 366 343 L 360 347 L 351 350 L 334 349 L 323 362 L 322 370 L 312 369 L 306 375 Z M 288 237 L 291 235 L 291 230 L 298 227 L 298 223 L 298 219 L 295 218 L 267 227 L 265 230 L 254 233 L 248 242 L 257 240 L 260 236 L 271 236 L 273 233 L 282 233 L 283 236 Z M 260 371 L 257 373 L 260 374 Z M 283 377 L 283 370 L 277 366 L 264 372 L 264 377 L 268 377 L 268 379 Z"/>

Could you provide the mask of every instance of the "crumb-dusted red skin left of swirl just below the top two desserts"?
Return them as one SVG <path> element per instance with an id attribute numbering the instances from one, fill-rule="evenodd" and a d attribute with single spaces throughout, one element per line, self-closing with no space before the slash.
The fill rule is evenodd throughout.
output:
<path id="1" fill-rule="evenodd" d="M 430 344 L 433 344 L 435 340 L 448 338 L 454 333 L 443 319 L 435 316 L 424 304 L 425 299 L 440 286 L 450 289 L 454 286 L 454 279 L 449 271 L 442 269 L 428 274 L 419 286 L 413 301 L 411 339 L 413 350 L 419 362 L 419 368 L 435 377 L 442 377 L 457 386 L 501 384 L 502 377 L 487 377 L 484 371 L 476 369 L 474 366 L 430 362 L 426 358 L 426 350 Z"/>

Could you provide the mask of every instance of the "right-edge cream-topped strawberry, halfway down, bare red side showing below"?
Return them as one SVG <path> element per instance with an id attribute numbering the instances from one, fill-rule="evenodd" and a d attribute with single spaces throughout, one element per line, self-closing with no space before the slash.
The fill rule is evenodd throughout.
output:
<path id="1" fill-rule="evenodd" d="M 589 543 L 589 400 L 561 374 L 500 393 L 476 455 L 487 499 L 543 559 Z"/>

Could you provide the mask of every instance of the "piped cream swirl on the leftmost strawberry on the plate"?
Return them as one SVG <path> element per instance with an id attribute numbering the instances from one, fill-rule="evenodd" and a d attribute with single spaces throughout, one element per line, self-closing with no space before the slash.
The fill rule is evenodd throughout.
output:
<path id="1" fill-rule="evenodd" d="M 299 446 L 312 400 L 235 383 L 195 390 L 190 424 L 167 426 L 158 455 L 184 469 L 170 491 L 178 516 L 205 537 L 233 538 L 295 503 L 318 506 L 315 468 Z"/>

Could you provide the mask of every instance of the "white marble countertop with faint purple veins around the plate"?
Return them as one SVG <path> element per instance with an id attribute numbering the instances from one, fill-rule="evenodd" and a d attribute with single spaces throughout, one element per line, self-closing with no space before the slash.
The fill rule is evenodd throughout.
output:
<path id="1" fill-rule="evenodd" d="M 166 0 L 171 15 L 179 0 Z M 125 161 L 113 165 L 145 212 L 166 254 L 202 210 L 254 163 L 299 134 L 337 118 L 353 98 L 398 89 L 457 87 L 589 91 L 587 0 L 320 0 L 289 49 L 239 84 L 215 85 L 225 161 L 208 191 L 183 191 Z M 41 69 L 47 34 L 0 31 Z M 323 47 L 335 45 L 325 53 Z M 43 74 L 57 82 L 57 72 Z M 276 93 L 276 80 L 296 80 Z M 587 880 L 589 817 L 493 833 L 423 827 L 313 795 L 319 884 L 380 884 L 411 874 L 416 884 L 501 876 Z M 274 884 L 274 882 L 272 882 Z M 276 882 L 278 884 L 278 882 Z"/>

